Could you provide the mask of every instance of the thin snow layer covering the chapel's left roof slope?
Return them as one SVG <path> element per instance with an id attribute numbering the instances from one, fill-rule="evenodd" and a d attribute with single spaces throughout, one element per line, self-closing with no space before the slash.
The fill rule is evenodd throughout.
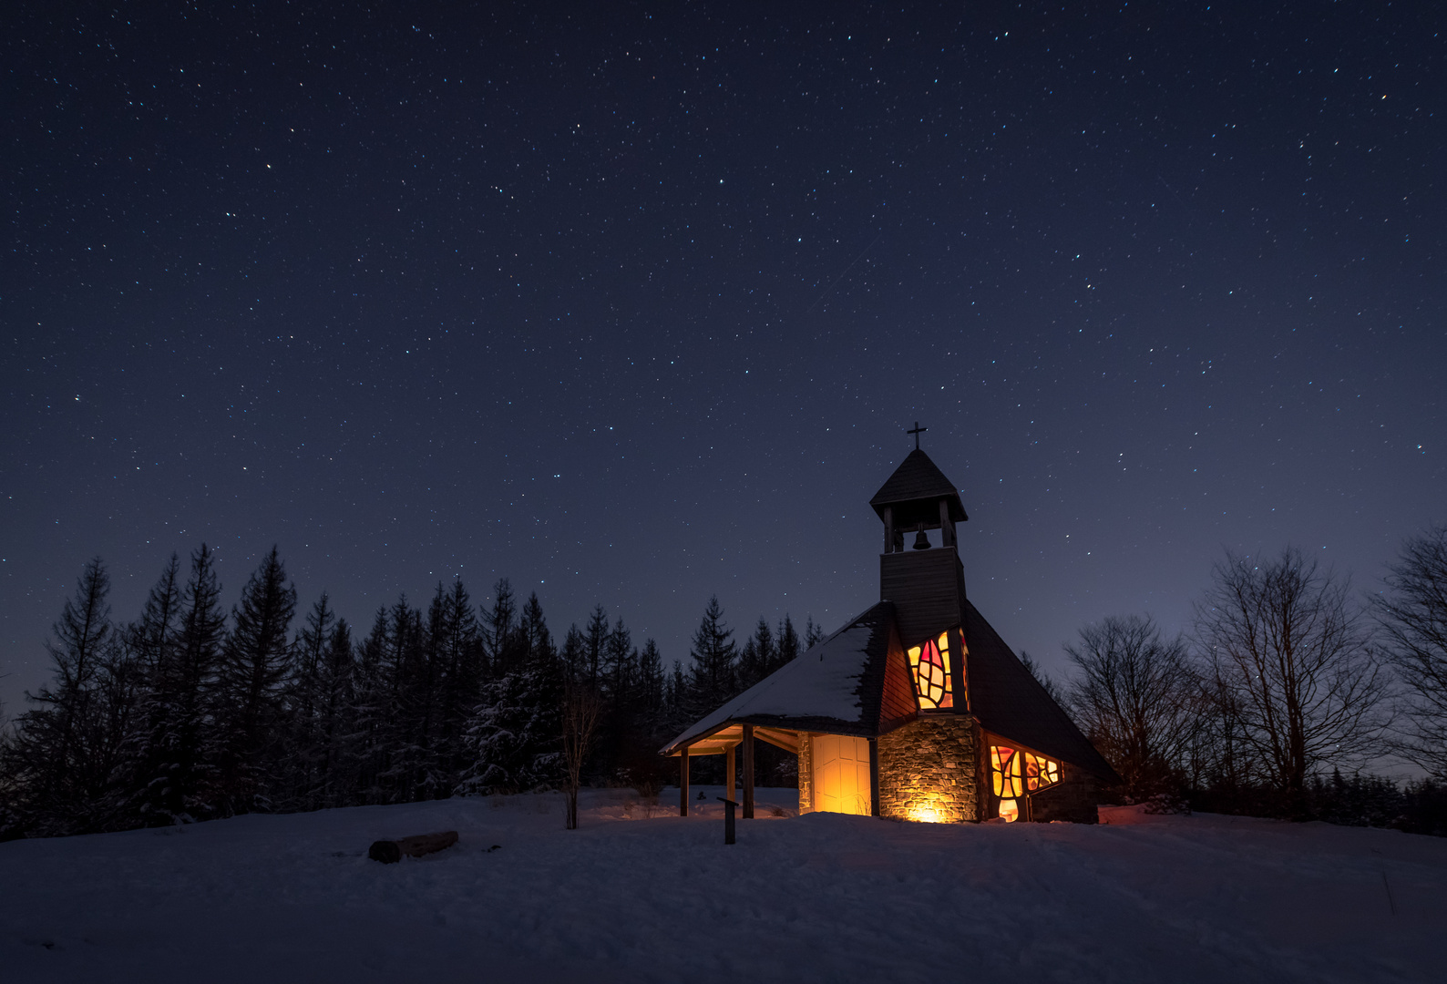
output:
<path id="1" fill-rule="evenodd" d="M 884 618 L 878 618 L 881 609 Z M 823 718 L 858 725 L 864 711 L 860 677 L 878 648 L 875 640 L 881 635 L 881 627 L 887 644 L 891 614 L 888 602 L 874 605 L 833 635 L 690 725 L 663 747 L 663 754 L 671 754 L 679 745 L 708 735 L 731 721 L 776 724 L 780 718 Z"/>

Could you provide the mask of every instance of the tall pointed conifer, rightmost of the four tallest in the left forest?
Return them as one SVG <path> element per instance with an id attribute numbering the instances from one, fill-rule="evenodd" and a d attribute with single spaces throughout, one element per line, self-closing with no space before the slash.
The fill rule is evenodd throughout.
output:
<path id="1" fill-rule="evenodd" d="M 227 813 L 271 806 L 266 777 L 281 754 L 282 684 L 291 671 L 287 632 L 297 589 L 272 547 L 232 609 L 221 657 L 217 724 L 221 726 L 220 794 Z"/>

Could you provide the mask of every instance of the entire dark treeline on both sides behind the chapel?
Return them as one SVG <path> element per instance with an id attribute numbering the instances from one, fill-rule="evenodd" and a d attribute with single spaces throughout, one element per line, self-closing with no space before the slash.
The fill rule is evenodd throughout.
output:
<path id="1" fill-rule="evenodd" d="M 1107 802 L 1447 834 L 1447 525 L 1389 572 L 1359 598 L 1299 550 L 1227 553 L 1189 634 L 1149 615 L 1085 625 L 1061 682 L 1022 658 L 1120 774 Z M 666 739 L 822 637 L 786 615 L 739 645 L 713 598 L 687 664 L 666 667 L 601 605 L 556 644 L 537 595 L 505 579 L 482 605 L 462 582 L 425 611 L 401 598 L 360 637 L 323 595 L 294 628 L 275 548 L 229 616 L 220 590 L 203 546 L 116 624 L 87 564 L 48 642 L 52 683 L 0 734 L 0 836 L 577 781 L 657 792 L 677 768 Z M 585 706 L 579 773 L 564 712 Z M 757 757 L 760 783 L 797 780 L 793 755 Z M 1421 779 L 1363 771 L 1385 757 Z M 722 758 L 695 770 L 719 781 Z"/>

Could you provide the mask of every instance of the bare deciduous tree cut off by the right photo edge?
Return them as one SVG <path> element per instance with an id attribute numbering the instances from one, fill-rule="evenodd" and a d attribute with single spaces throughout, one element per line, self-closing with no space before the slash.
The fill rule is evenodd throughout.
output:
<path id="1" fill-rule="evenodd" d="M 1447 779 L 1447 525 L 1412 537 L 1375 599 L 1386 653 L 1406 686 L 1395 751 Z"/>

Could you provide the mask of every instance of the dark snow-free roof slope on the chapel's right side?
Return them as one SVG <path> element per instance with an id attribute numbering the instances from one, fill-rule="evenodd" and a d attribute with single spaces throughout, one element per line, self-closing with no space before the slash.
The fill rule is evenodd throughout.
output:
<path id="1" fill-rule="evenodd" d="M 1095 745 L 968 601 L 964 634 L 969 709 L 985 731 L 1068 761 L 1107 783 L 1120 781 Z"/>

